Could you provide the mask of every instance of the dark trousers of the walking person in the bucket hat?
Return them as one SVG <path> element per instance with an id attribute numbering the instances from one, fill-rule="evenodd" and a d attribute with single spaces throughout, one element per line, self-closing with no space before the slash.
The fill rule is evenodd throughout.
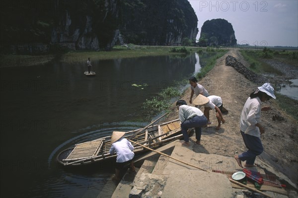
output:
<path id="1" fill-rule="evenodd" d="M 264 150 L 262 141 L 257 136 L 245 134 L 242 131 L 240 132 L 241 132 L 244 144 L 246 148 L 248 148 L 248 150 L 238 155 L 238 157 L 241 161 L 246 160 L 246 164 L 254 165 L 256 156 L 260 155 Z"/>

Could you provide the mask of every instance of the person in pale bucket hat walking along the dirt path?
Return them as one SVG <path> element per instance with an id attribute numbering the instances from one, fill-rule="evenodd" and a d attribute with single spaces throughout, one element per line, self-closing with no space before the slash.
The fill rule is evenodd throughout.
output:
<path id="1" fill-rule="evenodd" d="M 242 161 L 246 161 L 245 167 L 254 167 L 256 156 L 264 150 L 260 136 L 265 132 L 265 129 L 260 124 L 260 118 L 261 111 L 268 111 L 270 107 L 261 108 L 261 105 L 262 102 L 271 98 L 276 98 L 274 88 L 270 83 L 265 83 L 252 92 L 244 104 L 240 116 L 240 133 L 248 150 L 234 156 L 241 168 L 243 168 Z"/>

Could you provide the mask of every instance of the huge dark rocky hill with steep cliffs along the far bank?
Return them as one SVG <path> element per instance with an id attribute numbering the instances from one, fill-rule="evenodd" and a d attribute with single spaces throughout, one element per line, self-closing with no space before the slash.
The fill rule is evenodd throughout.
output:
<path id="1" fill-rule="evenodd" d="M 198 33 L 187 0 L 2 0 L 0 14 L 1 51 L 19 54 L 180 45 Z"/>

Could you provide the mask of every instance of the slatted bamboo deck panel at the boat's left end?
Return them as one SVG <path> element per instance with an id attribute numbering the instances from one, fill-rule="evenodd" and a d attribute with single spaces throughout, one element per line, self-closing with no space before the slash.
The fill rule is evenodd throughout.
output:
<path id="1" fill-rule="evenodd" d="M 95 141 L 76 144 L 74 150 L 66 158 L 65 161 L 79 160 L 84 159 L 86 157 L 96 156 L 101 149 L 103 141 L 103 139 L 99 139 Z"/>

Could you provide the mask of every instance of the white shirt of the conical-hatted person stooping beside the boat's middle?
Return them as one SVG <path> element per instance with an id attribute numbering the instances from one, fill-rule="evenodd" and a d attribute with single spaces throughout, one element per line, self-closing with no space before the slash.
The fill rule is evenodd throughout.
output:
<path id="1" fill-rule="evenodd" d="M 134 146 L 126 138 L 121 137 L 119 140 L 112 143 L 110 154 L 116 152 L 117 159 L 116 162 L 126 162 L 134 158 L 135 153 L 133 152 Z"/>

